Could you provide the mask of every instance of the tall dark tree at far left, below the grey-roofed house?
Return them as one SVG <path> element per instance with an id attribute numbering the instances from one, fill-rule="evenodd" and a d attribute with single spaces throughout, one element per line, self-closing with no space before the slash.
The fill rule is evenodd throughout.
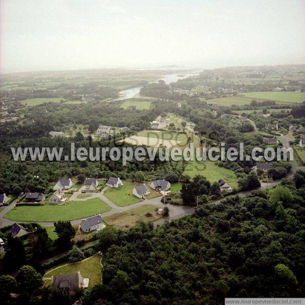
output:
<path id="1" fill-rule="evenodd" d="M 5 246 L 4 268 L 8 271 L 17 270 L 25 262 L 25 251 L 23 243 L 19 237 L 9 235 Z"/>

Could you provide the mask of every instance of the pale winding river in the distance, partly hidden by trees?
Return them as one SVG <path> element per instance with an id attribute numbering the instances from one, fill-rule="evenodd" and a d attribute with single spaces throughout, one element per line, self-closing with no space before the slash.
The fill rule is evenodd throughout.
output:
<path id="1" fill-rule="evenodd" d="M 163 75 L 161 78 L 159 78 L 155 81 L 152 81 L 152 83 L 153 82 L 158 82 L 159 80 L 164 80 L 165 83 L 168 85 L 172 82 L 178 81 L 179 79 L 185 79 L 187 77 L 197 76 L 199 74 L 200 73 L 198 73 L 198 72 L 186 72 L 186 73 L 184 73 L 184 72 L 181 71 L 181 73 Z M 133 88 L 130 88 L 130 89 L 122 90 L 118 93 L 119 98 L 116 99 L 116 100 L 121 101 L 121 100 L 125 100 L 125 99 L 134 98 L 136 95 L 138 95 L 140 93 L 141 88 L 142 87 L 133 87 Z"/>

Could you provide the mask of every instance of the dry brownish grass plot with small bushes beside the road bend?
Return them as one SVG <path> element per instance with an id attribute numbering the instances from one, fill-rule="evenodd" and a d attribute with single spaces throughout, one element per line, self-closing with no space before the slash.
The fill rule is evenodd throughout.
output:
<path id="1" fill-rule="evenodd" d="M 128 228 L 134 226 L 137 221 L 155 221 L 161 216 L 156 214 L 157 207 L 155 205 L 147 204 L 135 207 L 117 214 L 109 215 L 103 218 L 106 224 L 114 225 L 118 228 Z M 149 215 L 147 215 L 149 213 Z"/>

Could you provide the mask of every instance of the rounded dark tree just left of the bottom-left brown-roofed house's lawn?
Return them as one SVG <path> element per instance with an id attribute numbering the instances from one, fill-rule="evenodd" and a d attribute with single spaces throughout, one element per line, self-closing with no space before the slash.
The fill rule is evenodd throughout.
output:
<path id="1" fill-rule="evenodd" d="M 42 276 L 32 266 L 22 266 L 16 277 L 19 289 L 25 292 L 33 292 L 43 285 Z"/>

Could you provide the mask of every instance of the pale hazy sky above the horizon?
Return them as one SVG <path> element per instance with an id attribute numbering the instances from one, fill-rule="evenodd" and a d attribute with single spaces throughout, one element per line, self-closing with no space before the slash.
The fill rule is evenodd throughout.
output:
<path id="1" fill-rule="evenodd" d="M 1 0 L 1 72 L 305 63 L 300 0 Z"/>

